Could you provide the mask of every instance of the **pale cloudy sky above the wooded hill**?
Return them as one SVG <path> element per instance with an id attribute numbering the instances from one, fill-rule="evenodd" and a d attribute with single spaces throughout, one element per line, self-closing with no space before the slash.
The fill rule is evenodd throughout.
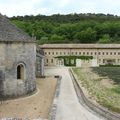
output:
<path id="1" fill-rule="evenodd" d="M 3 15 L 104 13 L 120 16 L 120 0 L 0 0 Z"/>

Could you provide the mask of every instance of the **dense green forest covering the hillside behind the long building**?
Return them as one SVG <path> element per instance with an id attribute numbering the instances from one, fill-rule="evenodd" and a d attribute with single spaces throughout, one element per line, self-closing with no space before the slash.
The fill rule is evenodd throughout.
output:
<path id="1" fill-rule="evenodd" d="M 9 18 L 44 43 L 120 43 L 120 17 L 111 14 L 55 14 Z"/>

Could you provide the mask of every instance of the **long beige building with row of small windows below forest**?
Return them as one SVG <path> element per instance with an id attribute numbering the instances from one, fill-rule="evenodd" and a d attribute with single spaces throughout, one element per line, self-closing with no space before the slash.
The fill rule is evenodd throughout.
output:
<path id="1" fill-rule="evenodd" d="M 44 44 L 40 47 L 46 66 L 69 66 L 67 62 L 78 67 L 120 65 L 120 44 Z"/>

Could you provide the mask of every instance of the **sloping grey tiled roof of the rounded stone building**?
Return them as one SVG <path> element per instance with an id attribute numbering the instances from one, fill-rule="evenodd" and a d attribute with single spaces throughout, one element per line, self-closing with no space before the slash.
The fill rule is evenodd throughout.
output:
<path id="1" fill-rule="evenodd" d="M 0 14 L 0 42 L 1 41 L 34 42 L 34 39 Z"/>

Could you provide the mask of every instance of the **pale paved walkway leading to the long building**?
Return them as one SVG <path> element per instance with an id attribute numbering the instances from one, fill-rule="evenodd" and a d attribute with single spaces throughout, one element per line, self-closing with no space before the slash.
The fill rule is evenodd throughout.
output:
<path id="1" fill-rule="evenodd" d="M 56 120 L 103 120 L 79 103 L 68 68 L 49 67 L 45 74 L 62 76 Z"/>

